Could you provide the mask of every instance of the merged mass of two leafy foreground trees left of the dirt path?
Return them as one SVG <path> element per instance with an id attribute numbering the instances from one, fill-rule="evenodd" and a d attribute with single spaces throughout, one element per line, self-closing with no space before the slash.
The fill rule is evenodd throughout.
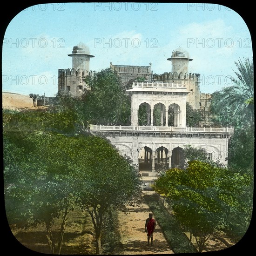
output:
<path id="1" fill-rule="evenodd" d="M 131 160 L 105 139 L 55 133 L 4 133 L 4 178 L 7 219 L 12 228 L 44 223 L 52 254 L 60 254 L 67 215 L 88 211 L 101 253 L 103 216 L 110 206 L 125 210 L 139 203 L 141 177 Z M 61 233 L 52 229 L 61 219 Z"/>

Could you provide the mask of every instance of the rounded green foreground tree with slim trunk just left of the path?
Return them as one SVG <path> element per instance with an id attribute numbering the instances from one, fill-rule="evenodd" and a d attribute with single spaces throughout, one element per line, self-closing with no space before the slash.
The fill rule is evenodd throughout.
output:
<path id="1" fill-rule="evenodd" d="M 81 146 L 80 146 L 81 144 Z M 96 253 L 101 254 L 102 220 L 110 206 L 118 210 L 140 203 L 141 176 L 132 161 L 119 154 L 104 138 L 80 137 L 76 145 L 84 157 L 77 159 L 76 186 L 81 209 L 88 211 L 94 224 Z M 82 149 L 83 147 L 83 149 Z"/>

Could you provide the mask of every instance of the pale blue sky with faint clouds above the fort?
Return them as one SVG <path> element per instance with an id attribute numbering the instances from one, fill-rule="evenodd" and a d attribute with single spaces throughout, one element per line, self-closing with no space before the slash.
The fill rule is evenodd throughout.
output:
<path id="1" fill-rule="evenodd" d="M 55 3 L 21 11 L 3 39 L 2 90 L 21 94 L 57 93 L 58 69 L 71 68 L 67 54 L 80 42 L 95 57 L 90 69 L 110 61 L 171 71 L 172 51 L 189 52 L 189 73 L 201 74 L 200 90 L 231 85 L 235 61 L 252 59 L 252 41 L 234 10 L 202 3 Z"/>

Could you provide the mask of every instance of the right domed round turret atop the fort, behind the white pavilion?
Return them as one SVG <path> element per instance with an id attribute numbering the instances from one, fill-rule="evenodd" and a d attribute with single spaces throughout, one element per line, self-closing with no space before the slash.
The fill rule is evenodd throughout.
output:
<path id="1" fill-rule="evenodd" d="M 189 61 L 193 61 L 189 58 L 189 53 L 179 47 L 178 49 L 172 52 L 172 57 L 167 59 L 168 61 L 172 61 L 172 74 L 177 72 L 180 74 L 188 73 Z"/>

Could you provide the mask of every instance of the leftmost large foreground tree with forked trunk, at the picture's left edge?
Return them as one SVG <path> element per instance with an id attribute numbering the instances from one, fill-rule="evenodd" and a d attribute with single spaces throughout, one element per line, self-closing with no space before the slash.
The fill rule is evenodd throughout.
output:
<path id="1" fill-rule="evenodd" d="M 75 207 L 75 162 L 70 155 L 79 152 L 71 143 L 72 137 L 52 133 L 4 136 L 5 205 L 10 227 L 44 223 L 50 252 L 60 254 L 67 215 Z M 17 138 L 19 142 L 14 143 Z M 59 234 L 54 235 L 56 218 L 61 218 L 62 224 Z"/>

